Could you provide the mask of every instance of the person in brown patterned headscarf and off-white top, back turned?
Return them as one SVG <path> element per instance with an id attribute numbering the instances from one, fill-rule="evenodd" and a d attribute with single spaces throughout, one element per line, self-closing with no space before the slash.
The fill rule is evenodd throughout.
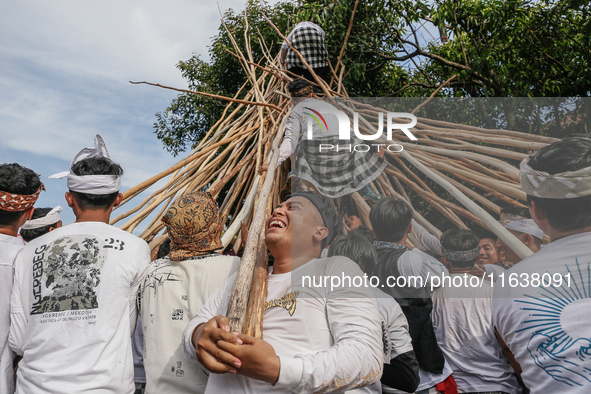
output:
<path id="1" fill-rule="evenodd" d="M 183 195 L 162 222 L 171 249 L 150 264 L 139 295 L 146 394 L 203 393 L 207 373 L 183 354 L 181 337 L 209 296 L 238 270 L 240 259 L 219 253 L 222 224 L 207 192 Z"/>

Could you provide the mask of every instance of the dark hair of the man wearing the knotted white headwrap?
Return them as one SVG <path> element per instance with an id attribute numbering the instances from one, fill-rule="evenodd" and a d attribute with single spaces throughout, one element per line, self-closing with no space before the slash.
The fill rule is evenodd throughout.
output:
<path id="1" fill-rule="evenodd" d="M 123 175 L 123 169 L 106 157 L 90 157 L 74 164 L 72 172 L 76 175 Z M 119 192 L 111 194 L 88 194 L 70 190 L 81 209 L 108 209 Z"/>

